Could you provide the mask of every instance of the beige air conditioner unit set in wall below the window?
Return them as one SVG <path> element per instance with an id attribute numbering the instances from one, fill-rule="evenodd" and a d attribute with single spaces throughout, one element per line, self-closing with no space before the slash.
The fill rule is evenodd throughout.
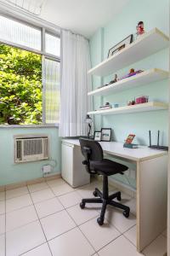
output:
<path id="1" fill-rule="evenodd" d="M 14 162 L 23 163 L 49 158 L 48 137 L 14 137 Z"/>

